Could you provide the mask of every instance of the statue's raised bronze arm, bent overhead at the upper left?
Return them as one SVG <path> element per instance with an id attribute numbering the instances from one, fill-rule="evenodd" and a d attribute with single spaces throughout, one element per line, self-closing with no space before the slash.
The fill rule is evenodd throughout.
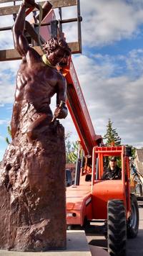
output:
<path id="1" fill-rule="evenodd" d="M 28 2 L 28 3 L 27 3 Z M 24 36 L 24 25 L 26 17 L 26 8 L 34 6 L 34 1 L 24 1 L 19 9 L 19 14 L 16 17 L 16 21 L 13 27 L 14 46 L 19 54 L 24 57 L 30 49 L 29 43 Z"/>

